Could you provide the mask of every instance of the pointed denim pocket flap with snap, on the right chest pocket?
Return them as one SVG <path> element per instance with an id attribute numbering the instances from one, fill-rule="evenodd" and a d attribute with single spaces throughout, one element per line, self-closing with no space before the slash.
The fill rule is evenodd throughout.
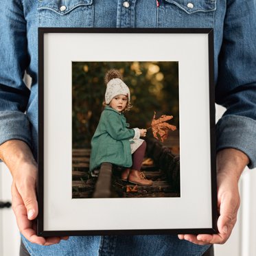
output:
<path id="1" fill-rule="evenodd" d="M 216 10 L 216 0 L 196 0 L 196 1 L 189 1 L 189 0 L 165 0 L 168 3 L 173 3 L 177 5 L 178 8 L 181 8 L 188 14 L 194 12 L 211 12 Z"/>

